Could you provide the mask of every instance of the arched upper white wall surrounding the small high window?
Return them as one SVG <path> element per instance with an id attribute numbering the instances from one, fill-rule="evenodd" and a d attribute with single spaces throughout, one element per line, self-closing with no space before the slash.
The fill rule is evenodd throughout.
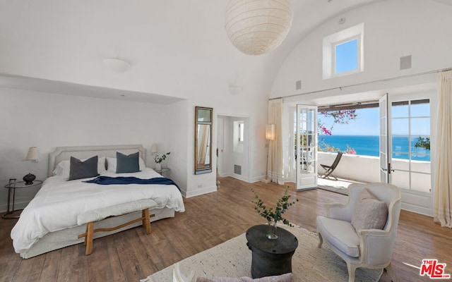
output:
<path id="1" fill-rule="evenodd" d="M 273 83 L 270 97 L 328 90 L 374 80 L 434 71 L 452 66 L 452 6 L 436 1 L 391 0 L 356 8 L 328 20 L 304 38 Z M 339 18 L 346 18 L 343 25 Z M 364 72 L 322 79 L 322 40 L 347 27 L 364 23 Z M 400 71 L 400 57 L 412 55 L 412 68 Z M 295 81 L 302 80 L 302 90 Z M 400 82 L 402 83 L 402 82 Z M 359 91 L 369 90 L 364 85 Z M 347 90 L 315 93 L 310 97 L 345 94 Z M 304 99 L 306 97 L 299 97 Z"/>

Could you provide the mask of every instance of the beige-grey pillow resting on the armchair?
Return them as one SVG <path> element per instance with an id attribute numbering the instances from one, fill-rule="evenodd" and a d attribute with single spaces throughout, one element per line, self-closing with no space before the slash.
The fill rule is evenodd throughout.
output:
<path id="1" fill-rule="evenodd" d="M 388 207 L 364 189 L 352 214 L 352 226 L 359 229 L 383 229 L 388 219 Z"/>

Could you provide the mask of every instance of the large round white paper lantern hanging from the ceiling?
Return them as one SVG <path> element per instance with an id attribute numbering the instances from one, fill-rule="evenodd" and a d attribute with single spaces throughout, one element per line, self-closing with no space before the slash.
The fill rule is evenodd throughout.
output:
<path id="1" fill-rule="evenodd" d="M 292 0 L 230 0 L 225 29 L 239 51 L 260 55 L 284 41 L 292 18 Z"/>

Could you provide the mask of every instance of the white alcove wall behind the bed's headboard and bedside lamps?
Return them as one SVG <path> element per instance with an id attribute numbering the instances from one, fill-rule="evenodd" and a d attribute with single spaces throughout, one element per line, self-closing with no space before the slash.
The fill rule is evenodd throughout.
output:
<path id="1" fill-rule="evenodd" d="M 141 144 L 148 152 L 146 164 L 154 167 L 150 146 L 155 142 L 159 151 L 172 151 L 169 165 L 176 164 L 180 150 L 177 140 L 169 142 L 174 138 L 162 116 L 177 106 L 0 88 L 0 183 L 21 180 L 29 172 L 44 180 L 48 154 L 59 146 Z M 39 149 L 37 163 L 23 161 L 31 146 Z M 184 177 L 176 179 L 186 189 Z M 16 191 L 16 207 L 24 207 L 37 190 Z M 0 189 L 0 211 L 6 210 L 7 192 Z"/>

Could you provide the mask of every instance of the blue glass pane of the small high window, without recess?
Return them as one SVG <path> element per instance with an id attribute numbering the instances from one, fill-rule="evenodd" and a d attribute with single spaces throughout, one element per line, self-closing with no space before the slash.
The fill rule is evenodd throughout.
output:
<path id="1" fill-rule="evenodd" d="M 335 73 L 358 69 L 358 39 L 352 39 L 335 46 Z"/>

